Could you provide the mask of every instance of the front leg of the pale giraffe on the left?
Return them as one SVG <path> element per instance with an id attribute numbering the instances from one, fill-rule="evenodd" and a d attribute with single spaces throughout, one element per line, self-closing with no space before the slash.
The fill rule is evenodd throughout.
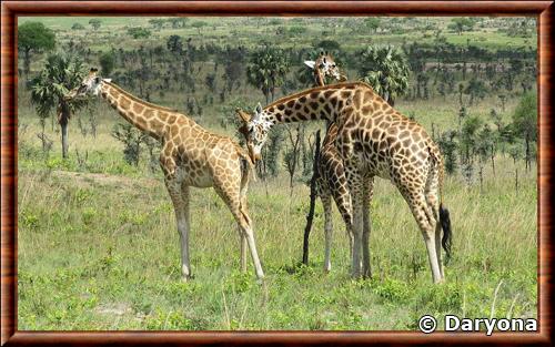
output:
<path id="1" fill-rule="evenodd" d="M 181 275 L 182 279 L 186 280 L 191 276 L 191 264 L 189 259 L 189 186 L 180 184 L 175 178 L 167 178 L 165 186 L 175 211 L 181 244 Z"/>

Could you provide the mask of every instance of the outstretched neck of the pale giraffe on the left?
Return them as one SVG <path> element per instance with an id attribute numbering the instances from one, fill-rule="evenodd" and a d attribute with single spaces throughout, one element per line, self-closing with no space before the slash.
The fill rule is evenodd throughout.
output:
<path id="1" fill-rule="evenodd" d="M 163 137 L 169 118 L 175 112 L 143 101 L 107 81 L 102 82 L 100 95 L 129 123 L 157 140 Z"/>

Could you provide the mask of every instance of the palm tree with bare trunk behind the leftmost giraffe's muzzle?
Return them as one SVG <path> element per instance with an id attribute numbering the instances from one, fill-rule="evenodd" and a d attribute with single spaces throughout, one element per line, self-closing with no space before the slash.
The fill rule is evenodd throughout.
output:
<path id="1" fill-rule="evenodd" d="M 67 101 L 64 95 L 83 80 L 83 64 L 71 57 L 50 55 L 44 69 L 30 82 L 31 102 L 41 123 L 56 110 L 62 131 L 62 156 L 68 157 L 68 123 L 71 115 L 87 104 L 87 100 Z"/>

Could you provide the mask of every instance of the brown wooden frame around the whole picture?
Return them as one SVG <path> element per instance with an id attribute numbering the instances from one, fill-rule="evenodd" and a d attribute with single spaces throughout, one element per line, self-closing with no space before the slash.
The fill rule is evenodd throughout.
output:
<path id="1" fill-rule="evenodd" d="M 1 344 L 12 345 L 553 345 L 553 1 L 3 1 L 1 4 Z M 21 331 L 17 329 L 18 16 L 531 16 L 538 19 L 538 319 L 532 334 L 411 331 Z"/>

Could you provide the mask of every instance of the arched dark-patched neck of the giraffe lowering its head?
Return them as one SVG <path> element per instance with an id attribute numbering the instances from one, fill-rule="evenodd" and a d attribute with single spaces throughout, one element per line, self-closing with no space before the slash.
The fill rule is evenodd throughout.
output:
<path id="1" fill-rule="evenodd" d="M 265 121 L 272 124 L 313 120 L 335 122 L 341 111 L 350 104 L 355 90 L 363 85 L 366 84 L 330 84 L 282 98 L 264 108 Z"/>

